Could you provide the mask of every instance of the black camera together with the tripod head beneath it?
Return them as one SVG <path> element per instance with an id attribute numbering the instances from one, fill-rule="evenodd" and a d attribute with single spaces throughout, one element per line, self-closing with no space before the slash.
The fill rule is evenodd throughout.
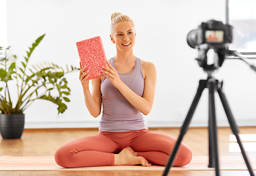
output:
<path id="1" fill-rule="evenodd" d="M 197 62 L 204 70 L 216 70 L 222 66 L 226 54 L 230 53 L 226 44 L 232 41 L 233 27 L 215 20 L 201 23 L 198 29 L 192 30 L 187 36 L 189 46 L 198 49 Z M 211 65 L 208 65 L 209 49 L 215 52 L 214 62 Z"/>

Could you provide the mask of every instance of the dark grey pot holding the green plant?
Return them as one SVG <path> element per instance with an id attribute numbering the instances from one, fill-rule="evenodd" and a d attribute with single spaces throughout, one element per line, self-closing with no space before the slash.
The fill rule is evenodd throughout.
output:
<path id="1" fill-rule="evenodd" d="M 0 132 L 3 139 L 20 139 L 24 131 L 25 114 L 0 114 Z"/>

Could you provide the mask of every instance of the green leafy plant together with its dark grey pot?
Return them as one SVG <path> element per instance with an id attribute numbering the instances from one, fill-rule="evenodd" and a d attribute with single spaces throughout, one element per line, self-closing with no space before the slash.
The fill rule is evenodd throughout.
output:
<path id="1" fill-rule="evenodd" d="M 69 102 L 70 88 L 64 77 L 78 68 L 66 69 L 53 63 L 40 63 L 28 67 L 30 56 L 34 48 L 43 40 L 45 34 L 26 51 L 23 61 L 18 62 L 17 57 L 10 54 L 10 47 L 0 47 L 0 132 L 3 139 L 19 139 L 24 129 L 25 111 L 34 100 L 48 100 L 55 103 L 59 113 L 66 109 Z M 17 100 L 10 87 L 17 87 Z M 54 95 L 53 95 L 54 94 Z"/>

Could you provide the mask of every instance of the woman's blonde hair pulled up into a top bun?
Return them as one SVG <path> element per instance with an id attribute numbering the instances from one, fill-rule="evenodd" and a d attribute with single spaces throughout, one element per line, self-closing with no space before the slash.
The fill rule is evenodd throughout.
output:
<path id="1" fill-rule="evenodd" d="M 120 23 L 120 22 L 123 22 L 123 21 L 129 21 L 134 26 L 134 21 L 128 15 L 123 15 L 120 12 L 112 13 L 112 15 L 111 15 L 111 24 L 110 24 L 110 34 L 113 34 L 114 26 L 117 23 Z"/>

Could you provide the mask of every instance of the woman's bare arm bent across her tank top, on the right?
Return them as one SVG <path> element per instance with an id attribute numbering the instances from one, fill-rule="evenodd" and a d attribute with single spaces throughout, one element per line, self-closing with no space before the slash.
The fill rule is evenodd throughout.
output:
<path id="1" fill-rule="evenodd" d="M 109 68 L 104 67 L 103 70 L 106 78 L 109 78 L 111 83 L 119 89 L 122 95 L 134 106 L 136 109 L 147 115 L 150 113 L 153 100 L 155 98 L 156 90 L 156 67 L 151 62 L 142 61 L 142 70 L 145 73 L 145 87 L 142 97 L 137 95 L 128 86 L 126 86 L 118 76 L 117 70 L 114 70 L 109 63 Z"/>

